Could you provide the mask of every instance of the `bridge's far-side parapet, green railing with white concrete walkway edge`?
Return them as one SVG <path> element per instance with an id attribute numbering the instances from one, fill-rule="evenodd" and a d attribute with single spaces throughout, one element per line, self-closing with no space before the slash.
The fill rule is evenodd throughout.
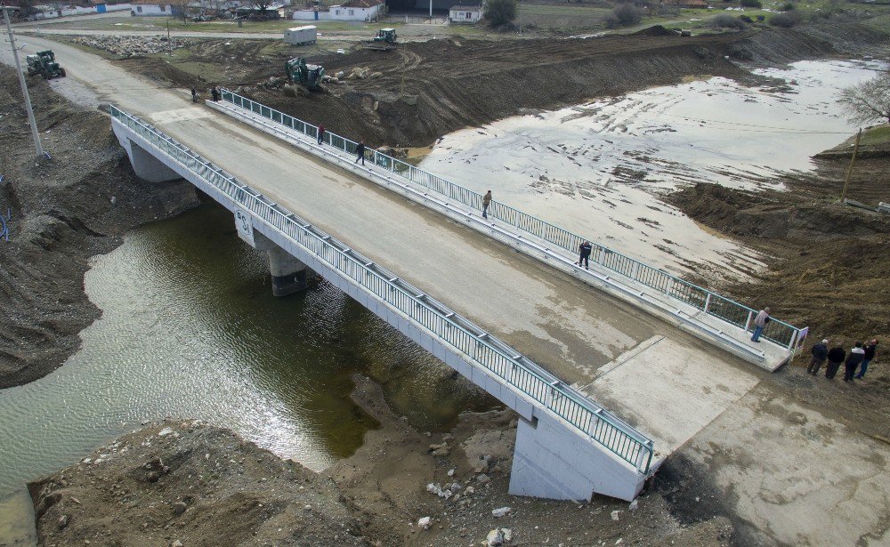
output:
<path id="1" fill-rule="evenodd" d="M 243 97 L 238 93 L 232 93 L 229 90 L 223 90 L 222 98 L 224 104 L 231 105 L 252 117 L 261 117 L 273 127 L 277 126 L 288 132 L 299 133 L 313 140 L 318 138 L 318 127 L 299 118 L 288 116 L 279 110 L 272 109 L 256 101 L 251 101 L 247 97 Z M 210 104 L 219 108 L 214 103 Z M 353 155 L 356 146 L 358 146 L 357 142 L 330 132 L 324 134 L 324 141 L 334 149 L 343 150 L 345 153 Z M 452 202 L 481 212 L 482 196 L 478 192 L 466 189 L 454 182 L 426 172 L 398 158 L 387 156 L 375 149 L 366 148 L 365 153 L 366 157 L 374 165 L 392 173 L 392 176 L 398 177 L 401 181 L 406 181 L 418 188 L 432 191 L 441 197 L 448 198 Z M 767 323 L 764 334 L 761 336 L 762 340 L 772 342 L 777 346 L 776 350 L 768 352 L 770 355 L 765 355 L 764 351 L 755 350 L 747 344 L 736 342 L 732 336 L 727 334 L 727 331 L 737 329 L 742 334 L 742 337 L 744 333 L 753 331 L 757 310 L 740 302 L 735 302 L 721 294 L 709 291 L 704 287 L 697 286 L 683 278 L 671 275 L 663 269 L 654 268 L 614 249 L 599 245 L 595 243 L 595 238 L 578 236 L 567 229 L 562 229 L 498 201 L 491 202 L 488 216 L 505 222 L 528 236 L 544 242 L 546 245 L 553 245 L 563 252 L 576 253 L 581 243 L 587 240 L 591 241 L 594 246 L 593 253 L 590 256 L 592 263 L 610 272 L 610 275 L 617 275 L 619 278 L 631 281 L 637 286 L 651 289 L 655 293 L 666 297 L 669 302 L 674 302 L 675 312 L 673 315 L 675 320 L 679 319 L 682 322 L 684 321 L 682 316 L 689 318 L 693 314 L 698 315 L 697 321 L 686 322 L 690 324 L 696 323 L 693 328 L 699 331 L 701 337 L 716 340 L 724 347 L 740 355 L 740 357 L 756 362 L 758 366 L 774 370 L 781 366 L 784 360 L 789 357 L 790 350 L 796 347 L 802 329 L 777 318 L 773 318 L 773 320 Z M 604 281 L 608 282 L 609 279 L 604 279 Z M 636 300 L 639 300 L 638 296 L 635 296 Z M 644 302 L 644 304 L 651 308 L 651 302 Z M 689 310 L 689 312 L 677 312 L 676 310 L 681 307 Z M 784 353 L 781 350 L 784 350 Z"/>

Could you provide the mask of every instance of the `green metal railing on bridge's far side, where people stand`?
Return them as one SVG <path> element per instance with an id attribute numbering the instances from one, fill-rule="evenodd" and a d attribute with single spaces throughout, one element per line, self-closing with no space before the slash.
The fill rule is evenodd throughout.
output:
<path id="1" fill-rule="evenodd" d="M 256 115 L 270 119 L 272 122 L 303 133 L 313 139 L 318 139 L 318 127 L 315 125 L 304 122 L 299 118 L 288 116 L 259 102 L 251 101 L 238 93 L 232 93 L 227 89 L 223 89 L 223 101 L 229 102 L 241 109 L 247 109 Z M 344 150 L 344 152 L 349 154 L 354 154 L 355 148 L 358 145 L 355 141 L 350 141 L 341 135 L 330 132 L 325 132 L 324 141 L 330 146 Z M 413 182 L 425 189 L 430 189 L 441 196 L 449 197 L 449 199 L 453 199 L 477 211 L 482 210 L 482 195 L 478 192 L 447 181 L 395 157 L 387 156 L 375 149 L 366 148 L 365 156 L 375 165 L 379 165 L 407 181 Z M 498 201 L 491 201 L 488 214 L 492 218 L 522 229 L 532 236 L 557 245 L 570 253 L 577 253 L 578 247 L 585 241 L 592 242 L 592 240 L 586 237 L 580 237 L 567 229 L 554 226 L 549 222 L 538 219 L 538 217 L 522 213 L 522 211 L 510 205 L 504 205 Z M 692 284 L 689 281 L 672 276 L 662 269 L 653 268 L 609 247 L 596 243 L 592 243 L 592 245 L 594 249 L 590 255 L 590 261 L 603 266 L 603 268 L 610 269 L 621 276 L 642 283 L 661 294 L 676 298 L 705 312 L 709 316 L 721 319 L 733 326 L 744 328 L 747 332 L 754 330 L 756 310 L 720 294 L 708 291 L 708 289 Z M 761 337 L 790 350 L 797 341 L 797 334 L 800 329 L 776 318 L 771 319 L 766 324 Z"/>

